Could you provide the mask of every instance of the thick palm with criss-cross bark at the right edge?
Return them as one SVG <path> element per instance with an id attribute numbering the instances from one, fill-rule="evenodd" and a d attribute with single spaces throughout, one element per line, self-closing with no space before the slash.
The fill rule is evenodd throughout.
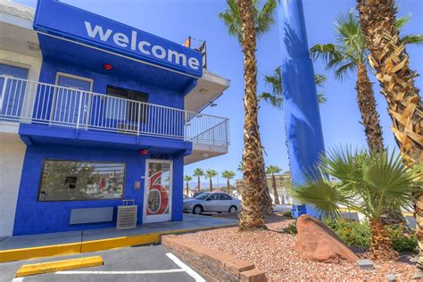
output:
<path id="1" fill-rule="evenodd" d="M 402 160 L 412 167 L 423 161 L 423 106 L 419 89 L 414 84 L 417 76 L 410 69 L 410 58 L 405 44 L 412 37 L 400 37 L 395 24 L 397 9 L 394 0 L 357 0 L 361 29 L 370 50 L 369 62 L 386 97 L 388 114 L 393 120 L 394 138 Z M 421 37 L 421 36 L 420 36 Z M 414 204 L 419 239 L 419 269 L 417 278 L 423 277 L 423 187 L 415 193 Z"/>

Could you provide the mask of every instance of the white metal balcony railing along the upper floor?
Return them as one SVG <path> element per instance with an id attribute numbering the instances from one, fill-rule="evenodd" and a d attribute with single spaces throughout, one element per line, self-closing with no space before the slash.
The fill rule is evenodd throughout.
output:
<path id="1" fill-rule="evenodd" d="M 228 119 L 0 76 L 0 120 L 228 145 Z"/>

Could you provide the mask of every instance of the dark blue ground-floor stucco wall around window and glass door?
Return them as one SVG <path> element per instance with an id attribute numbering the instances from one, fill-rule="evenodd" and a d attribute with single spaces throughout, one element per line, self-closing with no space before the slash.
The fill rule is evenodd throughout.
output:
<path id="1" fill-rule="evenodd" d="M 23 163 L 21 186 L 16 207 L 13 235 L 72 231 L 90 228 L 107 228 L 116 224 L 117 205 L 121 200 L 38 202 L 37 194 L 45 159 L 79 161 L 125 162 L 126 178 L 124 199 L 134 199 L 138 205 L 137 224 L 142 224 L 144 211 L 145 159 L 137 150 L 107 150 L 71 145 L 37 145 L 27 148 Z M 173 160 L 172 220 L 182 220 L 183 156 Z M 141 189 L 134 189 L 134 182 L 141 181 Z M 113 222 L 70 225 L 71 209 L 114 207 Z"/>

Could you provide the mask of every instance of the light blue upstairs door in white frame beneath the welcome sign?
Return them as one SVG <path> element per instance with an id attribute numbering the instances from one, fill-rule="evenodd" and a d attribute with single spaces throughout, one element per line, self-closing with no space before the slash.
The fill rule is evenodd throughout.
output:
<path id="1" fill-rule="evenodd" d="M 51 119 L 62 124 L 86 125 L 91 80 L 59 74 Z"/>

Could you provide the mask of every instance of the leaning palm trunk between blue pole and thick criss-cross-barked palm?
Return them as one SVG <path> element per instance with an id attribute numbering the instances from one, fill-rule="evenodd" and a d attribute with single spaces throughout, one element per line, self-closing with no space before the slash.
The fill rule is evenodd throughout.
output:
<path id="1" fill-rule="evenodd" d="M 376 109 L 376 100 L 373 85 L 370 82 L 364 63 L 360 62 L 357 68 L 357 103 L 361 113 L 361 122 L 366 133 L 367 144 L 370 152 L 382 152 L 384 139 L 380 126 L 379 114 Z"/>

